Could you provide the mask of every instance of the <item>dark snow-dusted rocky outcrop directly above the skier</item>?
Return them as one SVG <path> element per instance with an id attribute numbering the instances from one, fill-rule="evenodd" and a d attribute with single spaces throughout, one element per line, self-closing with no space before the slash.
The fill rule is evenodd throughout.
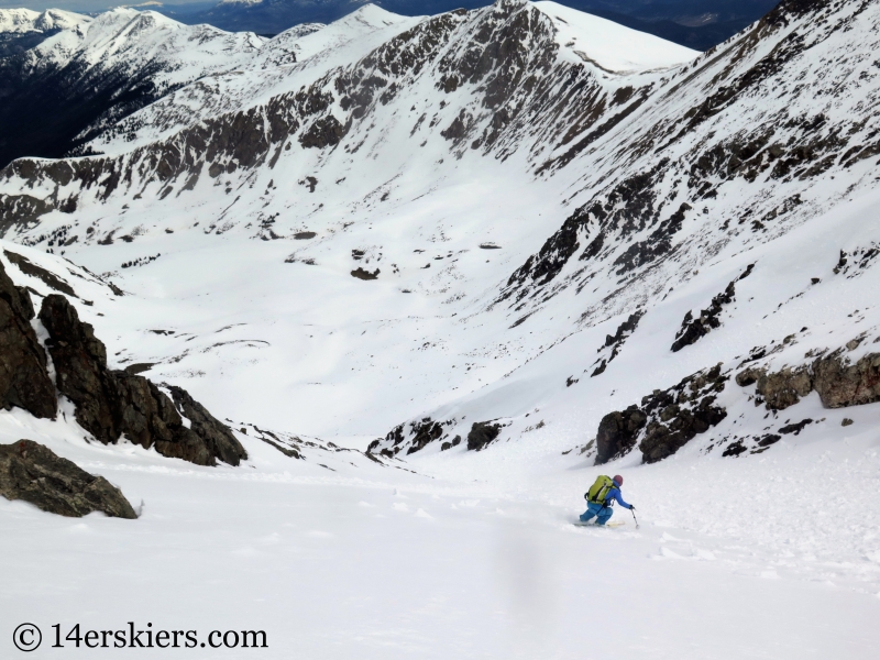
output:
<path id="1" fill-rule="evenodd" d="M 654 391 L 623 413 L 603 417 L 596 435 L 596 464 L 628 453 L 638 442 L 646 463 L 671 457 L 698 433 L 717 426 L 727 410 L 716 405 L 729 376 L 721 365 L 688 376 L 666 391 Z"/>

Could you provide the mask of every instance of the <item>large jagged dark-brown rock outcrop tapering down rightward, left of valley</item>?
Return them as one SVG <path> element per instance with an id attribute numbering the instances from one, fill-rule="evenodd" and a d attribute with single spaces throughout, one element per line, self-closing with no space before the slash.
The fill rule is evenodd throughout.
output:
<path id="1" fill-rule="evenodd" d="M 108 370 L 103 343 L 64 296 L 44 298 L 40 320 L 48 331 L 58 392 L 76 406 L 77 422 L 101 442 L 112 443 L 124 435 L 145 449 L 155 446 L 163 455 L 198 465 L 216 465 L 217 459 L 238 465 L 246 458 L 229 429 L 183 389 L 175 388 L 175 398 L 191 428 L 152 382 Z"/>

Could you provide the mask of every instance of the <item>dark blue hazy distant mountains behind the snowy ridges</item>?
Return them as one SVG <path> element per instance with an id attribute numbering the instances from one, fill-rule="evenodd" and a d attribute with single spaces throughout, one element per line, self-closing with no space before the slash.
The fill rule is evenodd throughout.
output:
<path id="1" fill-rule="evenodd" d="M 221 0 L 213 3 L 155 7 L 188 24 L 208 23 L 228 31 L 278 34 L 299 23 L 330 23 L 366 0 Z M 376 0 L 374 4 L 403 15 L 432 15 L 453 9 L 475 9 L 487 0 Z M 776 0 L 566 0 L 568 7 L 634 30 L 654 34 L 698 51 L 733 36 L 757 21 Z"/>

